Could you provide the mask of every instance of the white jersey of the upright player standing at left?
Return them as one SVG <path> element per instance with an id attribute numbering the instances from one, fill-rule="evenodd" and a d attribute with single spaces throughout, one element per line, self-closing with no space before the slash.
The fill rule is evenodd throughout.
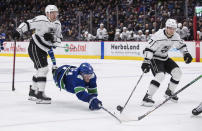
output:
<path id="1" fill-rule="evenodd" d="M 35 29 L 35 33 L 32 35 L 34 42 L 40 49 L 46 52 L 48 52 L 52 46 L 61 43 L 61 23 L 58 20 L 51 22 L 45 15 L 39 15 L 21 23 L 16 30 L 22 34 L 31 29 Z M 54 43 L 44 39 L 45 33 L 53 34 Z"/>

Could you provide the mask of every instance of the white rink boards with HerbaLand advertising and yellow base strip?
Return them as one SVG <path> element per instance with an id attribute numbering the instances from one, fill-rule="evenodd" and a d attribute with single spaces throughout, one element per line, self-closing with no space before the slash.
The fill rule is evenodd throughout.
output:
<path id="1" fill-rule="evenodd" d="M 120 59 L 120 60 L 143 60 L 143 50 L 147 42 L 133 41 L 65 41 L 60 47 L 54 49 L 56 58 L 85 58 L 85 59 Z M 202 59 L 202 42 L 186 42 L 189 52 L 196 61 Z M 0 56 L 13 56 L 14 42 L 4 42 L 4 50 Z M 29 42 L 16 43 L 16 56 L 28 57 Z M 199 50 L 199 51 L 197 51 Z M 197 54 L 197 55 L 196 55 Z M 169 56 L 176 61 L 183 61 L 183 55 L 176 48 L 169 50 Z M 200 60 L 201 61 L 201 60 Z"/>

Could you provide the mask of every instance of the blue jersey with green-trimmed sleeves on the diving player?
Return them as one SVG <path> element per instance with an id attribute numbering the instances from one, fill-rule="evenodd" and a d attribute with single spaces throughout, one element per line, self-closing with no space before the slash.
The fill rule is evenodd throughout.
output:
<path id="1" fill-rule="evenodd" d="M 53 78 L 60 89 L 76 94 L 79 100 L 89 102 L 93 97 L 97 97 L 96 75 L 92 74 L 90 82 L 85 82 L 80 74 L 79 68 L 70 65 L 59 67 Z"/>

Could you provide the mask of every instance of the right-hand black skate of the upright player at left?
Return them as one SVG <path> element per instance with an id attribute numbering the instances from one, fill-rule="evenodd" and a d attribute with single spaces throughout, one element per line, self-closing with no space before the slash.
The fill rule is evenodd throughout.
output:
<path id="1" fill-rule="evenodd" d="M 44 92 L 38 91 L 36 104 L 51 104 L 51 98 L 45 96 Z"/>

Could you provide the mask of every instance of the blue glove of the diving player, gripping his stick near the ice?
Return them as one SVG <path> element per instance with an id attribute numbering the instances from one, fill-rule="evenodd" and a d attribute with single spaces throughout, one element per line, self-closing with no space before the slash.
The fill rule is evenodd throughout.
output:
<path id="1" fill-rule="evenodd" d="M 89 101 L 89 109 L 90 110 L 99 110 L 102 107 L 102 102 L 98 100 L 96 97 L 92 98 Z"/>

